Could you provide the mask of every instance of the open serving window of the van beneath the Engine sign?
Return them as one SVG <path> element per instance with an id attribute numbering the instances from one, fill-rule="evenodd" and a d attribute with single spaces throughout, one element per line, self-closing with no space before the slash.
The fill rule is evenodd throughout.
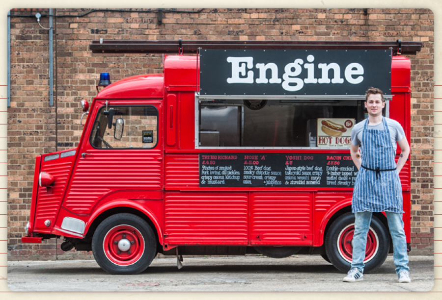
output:
<path id="1" fill-rule="evenodd" d="M 349 143 L 351 127 L 366 117 L 362 97 L 353 100 L 337 97 L 332 100 L 244 100 L 226 97 L 197 99 L 196 103 L 196 148 L 340 146 L 348 149 L 348 146 L 333 144 L 336 136 L 346 137 L 345 142 Z M 384 115 L 387 113 L 386 108 Z M 325 140 L 320 140 L 324 132 L 319 129 L 318 135 L 318 126 L 331 126 L 331 130 L 334 126 L 334 129 L 347 132 L 338 132 L 335 136 L 331 131 L 327 131 L 331 134 L 331 145 L 328 145 L 323 143 Z M 340 126 L 347 126 L 349 129 L 339 128 Z M 336 141 L 344 143 L 342 138 Z"/>

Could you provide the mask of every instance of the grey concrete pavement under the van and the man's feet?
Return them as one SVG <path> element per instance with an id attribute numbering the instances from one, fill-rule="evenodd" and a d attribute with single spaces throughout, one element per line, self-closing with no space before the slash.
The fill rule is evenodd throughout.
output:
<path id="1" fill-rule="evenodd" d="M 398 283 L 392 256 L 360 282 L 342 282 L 321 256 L 293 255 L 156 258 L 138 275 L 109 275 L 93 260 L 8 263 L 12 291 L 163 291 L 163 292 L 426 292 L 433 288 L 433 256 L 410 256 L 411 283 Z"/>

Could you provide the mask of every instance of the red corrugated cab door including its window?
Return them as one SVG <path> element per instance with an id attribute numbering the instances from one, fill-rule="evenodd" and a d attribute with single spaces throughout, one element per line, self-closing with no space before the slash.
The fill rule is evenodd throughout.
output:
<path id="1" fill-rule="evenodd" d="M 96 113 L 91 112 L 95 120 L 82 138 L 63 201 L 63 207 L 76 214 L 89 214 L 116 191 L 163 190 L 161 101 L 108 102 L 99 102 Z"/>

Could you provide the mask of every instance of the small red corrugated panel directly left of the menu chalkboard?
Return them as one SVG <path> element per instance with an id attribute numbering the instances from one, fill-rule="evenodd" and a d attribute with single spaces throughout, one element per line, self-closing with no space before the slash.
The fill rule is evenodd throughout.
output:
<path id="1" fill-rule="evenodd" d="M 166 188 L 180 186 L 199 187 L 198 154 L 166 154 L 165 156 Z"/>

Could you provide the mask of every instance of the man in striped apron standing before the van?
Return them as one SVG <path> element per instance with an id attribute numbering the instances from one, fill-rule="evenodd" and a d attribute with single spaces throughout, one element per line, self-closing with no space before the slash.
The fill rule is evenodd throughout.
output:
<path id="1" fill-rule="evenodd" d="M 380 89 L 367 90 L 365 107 L 368 119 L 355 125 L 351 136 L 350 153 L 359 172 L 352 200 L 352 211 L 355 213 L 353 261 L 344 281 L 354 282 L 363 279 L 365 247 L 371 216 L 373 212 L 385 211 L 393 241 L 393 261 L 399 282 L 410 282 L 399 179 L 399 172 L 410 154 L 410 146 L 402 126 L 382 116 L 385 100 Z M 397 164 L 394 161 L 396 142 L 401 149 Z"/>

